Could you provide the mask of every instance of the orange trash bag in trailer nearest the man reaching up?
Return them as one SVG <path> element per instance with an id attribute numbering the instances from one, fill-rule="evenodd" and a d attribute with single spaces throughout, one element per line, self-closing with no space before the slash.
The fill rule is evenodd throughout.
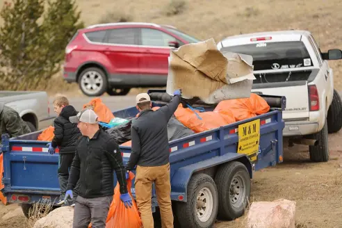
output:
<path id="1" fill-rule="evenodd" d="M 235 122 L 235 118 L 230 111 L 199 113 L 199 111 L 195 110 L 195 112 L 202 120 L 190 108 L 183 108 L 181 105 L 174 112 L 174 115 L 179 122 L 195 131 L 195 133 L 208 131 Z"/>

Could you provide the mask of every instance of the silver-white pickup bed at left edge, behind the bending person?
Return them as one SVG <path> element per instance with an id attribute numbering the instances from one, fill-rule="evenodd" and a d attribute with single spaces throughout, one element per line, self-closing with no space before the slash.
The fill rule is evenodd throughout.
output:
<path id="1" fill-rule="evenodd" d="M 15 109 L 31 131 L 49 127 L 56 117 L 50 115 L 47 92 L 0 90 L 0 102 Z"/>

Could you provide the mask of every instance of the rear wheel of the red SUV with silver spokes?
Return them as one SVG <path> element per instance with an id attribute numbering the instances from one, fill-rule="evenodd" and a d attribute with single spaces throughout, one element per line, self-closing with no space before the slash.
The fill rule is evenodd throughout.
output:
<path id="1" fill-rule="evenodd" d="M 79 76 L 79 88 L 89 97 L 103 95 L 107 90 L 106 74 L 97 67 L 83 70 Z"/>

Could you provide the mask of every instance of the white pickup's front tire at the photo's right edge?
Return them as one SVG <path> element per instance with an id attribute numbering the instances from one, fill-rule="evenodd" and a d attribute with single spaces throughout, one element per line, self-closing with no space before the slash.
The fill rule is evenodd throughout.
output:
<path id="1" fill-rule="evenodd" d="M 327 113 L 328 133 L 335 133 L 342 127 L 342 101 L 339 93 L 334 90 L 332 104 L 330 104 Z"/>

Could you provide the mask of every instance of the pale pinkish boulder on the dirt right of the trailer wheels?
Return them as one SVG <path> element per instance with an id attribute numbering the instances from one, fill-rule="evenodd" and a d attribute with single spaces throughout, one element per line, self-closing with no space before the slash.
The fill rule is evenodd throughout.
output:
<path id="1" fill-rule="evenodd" d="M 295 202 L 287 199 L 253 202 L 247 214 L 247 227 L 295 228 Z"/>

